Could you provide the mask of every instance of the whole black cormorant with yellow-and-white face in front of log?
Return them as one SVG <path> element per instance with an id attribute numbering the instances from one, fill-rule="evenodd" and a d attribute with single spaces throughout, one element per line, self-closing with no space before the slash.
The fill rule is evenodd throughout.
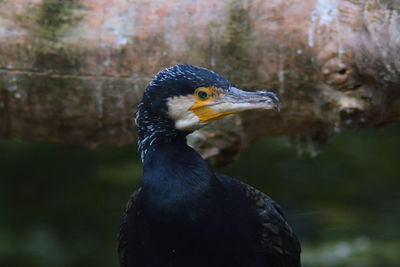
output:
<path id="1" fill-rule="evenodd" d="M 273 92 L 244 91 L 193 65 L 158 72 L 138 105 L 141 187 L 118 235 L 121 267 L 301 266 L 300 243 L 269 196 L 215 173 L 186 136 L 253 109 L 279 109 Z"/>

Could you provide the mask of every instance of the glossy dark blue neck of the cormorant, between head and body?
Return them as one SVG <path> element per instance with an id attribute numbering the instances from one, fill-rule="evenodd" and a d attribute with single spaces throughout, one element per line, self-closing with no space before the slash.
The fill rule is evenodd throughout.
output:
<path id="1" fill-rule="evenodd" d="M 158 136 L 147 148 L 143 165 L 143 194 L 155 212 L 191 210 L 215 182 L 208 164 L 183 136 Z"/>

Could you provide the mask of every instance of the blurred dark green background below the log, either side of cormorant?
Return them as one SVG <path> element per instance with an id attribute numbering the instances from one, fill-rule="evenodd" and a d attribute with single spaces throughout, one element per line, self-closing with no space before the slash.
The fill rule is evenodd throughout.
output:
<path id="1" fill-rule="evenodd" d="M 288 138 L 219 172 L 275 199 L 304 266 L 399 266 L 400 127 L 336 134 L 316 157 Z M 0 266 L 118 266 L 116 238 L 142 172 L 136 146 L 0 141 Z"/>

